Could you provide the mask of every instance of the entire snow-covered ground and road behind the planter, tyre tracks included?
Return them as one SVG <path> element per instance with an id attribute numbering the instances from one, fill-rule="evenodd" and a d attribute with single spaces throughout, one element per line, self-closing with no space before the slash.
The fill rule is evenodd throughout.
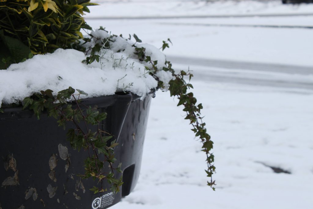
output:
<path id="1" fill-rule="evenodd" d="M 179 1 L 112 2 L 105 4 L 110 8 L 107 12 L 99 10 L 94 17 L 114 15 L 117 8 L 128 11 L 124 16 L 134 16 L 135 10 L 129 10 L 135 3 L 137 8 L 146 5 L 136 16 L 165 15 L 160 8 L 166 10 L 170 3 L 176 5 L 175 15 L 187 14 L 186 5 L 192 8 L 190 15 L 225 14 L 225 8 L 233 14 L 313 11 L 313 4 L 285 6 L 280 1 L 226 1 L 198 8 L 203 2 L 185 1 L 181 7 L 177 7 Z M 205 156 L 181 108 L 168 93 L 158 92 L 151 104 L 139 182 L 112 209 L 312 208 L 313 29 L 210 26 L 312 26 L 312 16 L 89 19 L 88 23 L 125 37 L 136 33 L 144 42 L 160 47 L 162 40 L 171 38 L 174 45 L 165 52 L 173 58 L 174 68 L 194 70 L 193 92 L 203 103 L 215 143 L 214 192 L 206 186 Z M 206 64 L 210 60 L 220 62 L 221 67 Z M 275 173 L 270 167 L 290 174 Z"/>

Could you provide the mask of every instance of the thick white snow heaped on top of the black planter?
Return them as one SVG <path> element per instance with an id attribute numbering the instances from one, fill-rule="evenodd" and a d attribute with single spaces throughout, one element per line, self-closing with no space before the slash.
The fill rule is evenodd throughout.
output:
<path id="1" fill-rule="evenodd" d="M 91 34 L 92 41 L 84 45 L 87 50 L 97 41 L 110 36 L 104 30 L 96 30 Z M 134 54 L 134 43 L 130 40 L 119 36 L 112 39 L 110 49 L 101 50 L 100 62 L 95 61 L 90 65 L 82 62 L 88 56 L 83 52 L 58 49 L 52 54 L 35 55 L 22 63 L 10 65 L 7 70 L 0 70 L 0 101 L 5 104 L 16 103 L 34 92 L 46 89 L 53 90 L 56 95 L 69 86 L 87 92 L 88 97 L 112 95 L 117 91 L 131 91 L 145 97 L 151 89 L 157 87 L 157 81 L 146 69 L 151 64 L 138 60 Z M 165 55 L 150 44 L 137 47 L 145 47 L 151 60 L 158 60 L 156 76 L 167 84 L 172 75 L 162 71 Z"/>

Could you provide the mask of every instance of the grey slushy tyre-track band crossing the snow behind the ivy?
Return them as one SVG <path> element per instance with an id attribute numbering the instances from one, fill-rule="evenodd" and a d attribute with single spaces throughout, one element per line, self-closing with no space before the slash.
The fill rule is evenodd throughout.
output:
<path id="1" fill-rule="evenodd" d="M 192 70 L 195 80 L 313 93 L 311 67 L 168 56 L 174 69 Z"/>

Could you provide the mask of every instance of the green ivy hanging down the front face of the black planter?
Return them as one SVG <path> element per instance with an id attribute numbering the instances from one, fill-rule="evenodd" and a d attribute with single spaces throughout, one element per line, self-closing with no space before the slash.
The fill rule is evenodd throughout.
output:
<path id="1" fill-rule="evenodd" d="M 25 97 L 23 100 L 23 108 L 29 108 L 39 119 L 42 111 L 47 111 L 49 117 L 57 119 L 59 126 L 65 129 L 67 123 L 74 123 L 75 129 L 70 128 L 66 133 L 66 138 L 70 142 L 73 149 L 78 151 L 84 149 L 88 152 L 89 157 L 84 161 L 85 174 L 80 175 L 82 178 L 92 178 L 101 182 L 101 188 L 93 187 L 91 191 L 102 192 L 106 188 L 102 188 L 102 181 L 107 180 L 111 185 L 111 191 L 118 192 L 123 184 L 122 178 L 116 179 L 114 172 L 122 173 L 121 164 L 116 168 L 113 165 L 116 162 L 114 155 L 114 147 L 118 145 L 114 141 L 110 141 L 112 136 L 100 129 L 100 123 L 106 119 L 106 112 L 99 112 L 97 107 L 85 107 L 80 104 L 80 95 L 88 95 L 86 92 L 69 87 L 58 92 L 54 97 L 52 90 L 40 91 L 31 97 Z M 72 98 L 74 104 L 66 102 Z M 82 123 L 80 123 L 82 122 Z M 81 125 L 83 124 L 83 125 Z M 92 128 L 94 127 L 94 128 Z M 96 129 L 92 132 L 91 129 Z M 100 155 L 104 156 L 104 160 L 100 160 Z M 104 173 L 103 167 L 108 164 L 110 172 Z"/>

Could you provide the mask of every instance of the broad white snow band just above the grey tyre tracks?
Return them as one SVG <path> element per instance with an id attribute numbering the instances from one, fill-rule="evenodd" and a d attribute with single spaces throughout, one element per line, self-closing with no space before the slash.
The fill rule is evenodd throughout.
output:
<path id="1" fill-rule="evenodd" d="M 313 18 L 308 18 L 313 21 Z M 304 22 L 303 17 L 297 19 L 298 21 L 294 21 L 292 25 L 300 25 Z M 179 19 L 175 21 L 162 19 L 89 20 L 88 23 L 94 28 L 102 25 L 113 34 L 123 34 L 124 37 L 128 37 L 128 34 L 136 34 L 144 42 L 157 47 L 162 46 L 163 40 L 170 38 L 173 46 L 164 51 L 166 55 L 313 66 L 313 59 L 310 59 L 313 49 L 311 41 L 313 29 L 207 27 L 176 24 L 204 23 L 205 21 L 210 22 L 209 19 Z M 249 18 L 238 19 L 238 21 L 240 24 L 247 24 Z M 284 21 L 281 18 L 266 19 L 266 22 L 275 22 L 275 24 L 286 24 L 287 21 L 289 20 Z M 250 19 L 250 22 L 256 23 L 254 18 Z M 261 21 L 258 22 L 261 23 Z M 262 22 L 264 23 L 265 20 Z M 233 24 L 234 20 L 231 23 Z"/>

